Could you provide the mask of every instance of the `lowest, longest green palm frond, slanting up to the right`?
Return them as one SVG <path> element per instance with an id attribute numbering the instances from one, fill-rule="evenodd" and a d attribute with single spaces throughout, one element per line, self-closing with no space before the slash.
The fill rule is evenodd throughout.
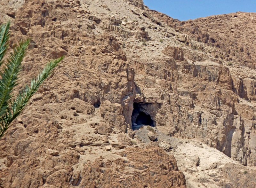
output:
<path id="1" fill-rule="evenodd" d="M 5 131 L 9 128 L 11 122 L 22 112 L 29 99 L 36 93 L 42 83 L 51 75 L 53 69 L 58 66 L 64 57 L 52 60 L 44 67 L 43 71 L 38 74 L 36 79 L 31 81 L 30 87 L 26 86 L 21 90 L 18 96 L 12 102 L 11 109 L 7 109 L 6 114 L 0 118 L 0 138 L 4 136 Z"/>

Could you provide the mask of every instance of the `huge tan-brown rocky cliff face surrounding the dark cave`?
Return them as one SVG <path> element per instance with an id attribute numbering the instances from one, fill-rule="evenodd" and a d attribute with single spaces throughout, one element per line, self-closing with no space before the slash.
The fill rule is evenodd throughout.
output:
<path id="1" fill-rule="evenodd" d="M 66 56 L 0 140 L 3 187 L 255 187 L 255 35 L 227 51 L 253 26 L 214 38 L 142 0 L 2 4 L 10 46 L 32 40 L 24 82 Z M 236 15 L 215 22 L 254 21 Z"/>

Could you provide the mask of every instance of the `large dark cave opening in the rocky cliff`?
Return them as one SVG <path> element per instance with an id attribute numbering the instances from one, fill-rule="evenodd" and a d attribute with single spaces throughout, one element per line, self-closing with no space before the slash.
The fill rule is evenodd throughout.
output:
<path id="1" fill-rule="evenodd" d="M 140 127 L 155 127 L 155 110 L 152 103 L 133 103 L 132 129 L 138 130 Z"/>

